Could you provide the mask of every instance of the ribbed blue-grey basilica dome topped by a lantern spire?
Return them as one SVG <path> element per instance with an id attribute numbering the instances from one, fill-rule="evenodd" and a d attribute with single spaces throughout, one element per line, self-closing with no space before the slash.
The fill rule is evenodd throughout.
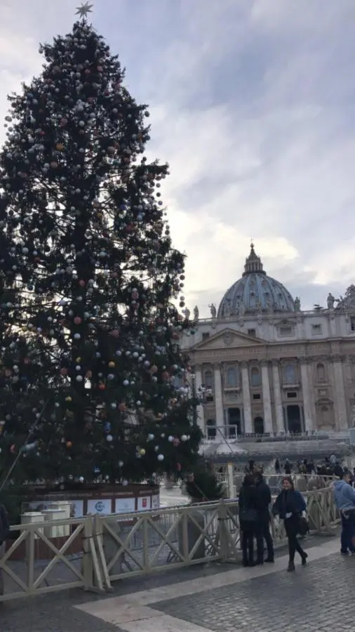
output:
<path id="1" fill-rule="evenodd" d="M 290 292 L 282 283 L 267 276 L 260 257 L 255 254 L 254 245 L 251 244 L 243 276 L 223 296 L 217 317 L 295 311 L 295 302 Z"/>

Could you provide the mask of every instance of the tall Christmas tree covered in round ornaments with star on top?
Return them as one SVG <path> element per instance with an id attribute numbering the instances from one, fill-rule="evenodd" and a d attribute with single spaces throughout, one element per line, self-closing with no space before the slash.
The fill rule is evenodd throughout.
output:
<path id="1" fill-rule="evenodd" d="M 79 8 L 9 97 L 0 154 L 0 465 L 18 481 L 140 481 L 191 468 L 190 324 L 149 163 L 146 105 Z"/>

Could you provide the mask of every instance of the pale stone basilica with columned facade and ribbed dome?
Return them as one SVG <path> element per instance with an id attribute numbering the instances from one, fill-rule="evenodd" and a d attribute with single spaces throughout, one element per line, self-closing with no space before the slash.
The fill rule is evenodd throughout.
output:
<path id="1" fill-rule="evenodd" d="M 181 343 L 206 438 L 355 426 L 355 286 L 302 311 L 252 244 L 242 277 Z"/>

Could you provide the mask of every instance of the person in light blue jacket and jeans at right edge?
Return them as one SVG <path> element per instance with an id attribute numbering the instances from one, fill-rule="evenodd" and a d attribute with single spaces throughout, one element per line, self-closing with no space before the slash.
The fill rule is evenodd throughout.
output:
<path id="1" fill-rule="evenodd" d="M 340 552 L 342 555 L 355 553 L 355 489 L 350 485 L 350 474 L 342 472 L 342 478 L 334 483 L 335 504 L 342 520 Z"/>

